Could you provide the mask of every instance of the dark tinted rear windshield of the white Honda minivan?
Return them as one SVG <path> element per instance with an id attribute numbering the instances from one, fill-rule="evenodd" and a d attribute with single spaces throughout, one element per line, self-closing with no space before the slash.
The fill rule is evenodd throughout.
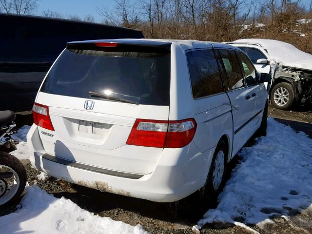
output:
<path id="1" fill-rule="evenodd" d="M 50 70 L 40 91 L 167 106 L 170 53 L 67 48 Z"/>

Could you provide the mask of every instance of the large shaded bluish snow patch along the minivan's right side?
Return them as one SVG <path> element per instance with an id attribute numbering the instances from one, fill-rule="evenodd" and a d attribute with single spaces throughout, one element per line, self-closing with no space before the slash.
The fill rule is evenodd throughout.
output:
<path id="1" fill-rule="evenodd" d="M 307 135 L 268 118 L 267 137 L 243 148 L 239 156 L 241 163 L 219 195 L 218 206 L 194 230 L 206 223 L 261 227 L 272 223 L 272 216 L 287 219 L 292 209 L 312 210 L 312 139 Z"/>

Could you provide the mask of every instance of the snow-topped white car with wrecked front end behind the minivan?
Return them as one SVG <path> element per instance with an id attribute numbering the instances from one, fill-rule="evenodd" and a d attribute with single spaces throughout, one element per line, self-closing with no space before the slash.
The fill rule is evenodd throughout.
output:
<path id="1" fill-rule="evenodd" d="M 272 74 L 268 91 L 273 105 L 289 110 L 297 103 L 312 103 L 312 55 L 291 44 L 270 39 L 226 42 L 242 49 L 258 72 Z"/>

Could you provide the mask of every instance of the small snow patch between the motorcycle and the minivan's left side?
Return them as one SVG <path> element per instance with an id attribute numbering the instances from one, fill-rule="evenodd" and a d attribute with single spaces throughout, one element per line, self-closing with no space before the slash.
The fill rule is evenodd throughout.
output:
<path id="1" fill-rule="evenodd" d="M 29 150 L 28 150 L 28 146 L 27 146 L 26 136 L 27 136 L 27 133 L 28 133 L 30 127 L 31 126 L 24 125 L 18 130 L 18 133 L 12 135 L 12 138 L 13 139 L 19 139 L 20 143 L 17 145 L 18 149 L 11 152 L 10 154 L 16 156 L 20 160 L 29 158 Z"/>

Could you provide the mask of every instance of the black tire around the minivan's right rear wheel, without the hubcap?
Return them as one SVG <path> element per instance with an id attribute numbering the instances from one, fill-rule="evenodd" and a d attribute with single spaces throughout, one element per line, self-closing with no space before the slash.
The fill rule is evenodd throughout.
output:
<path id="1" fill-rule="evenodd" d="M 215 169 L 214 167 L 215 160 L 219 151 L 223 151 L 223 154 L 224 154 L 224 169 L 223 169 L 224 173 L 223 173 L 222 180 L 221 180 L 219 187 L 215 189 L 213 185 L 213 172 Z M 225 185 L 227 160 L 228 160 L 228 145 L 225 143 L 224 140 L 221 139 L 215 148 L 215 153 L 211 161 L 211 166 L 210 166 L 210 170 L 207 176 L 206 184 L 203 188 L 203 199 L 207 200 L 211 204 L 215 204 L 217 202 L 218 195 L 221 193 Z"/>

